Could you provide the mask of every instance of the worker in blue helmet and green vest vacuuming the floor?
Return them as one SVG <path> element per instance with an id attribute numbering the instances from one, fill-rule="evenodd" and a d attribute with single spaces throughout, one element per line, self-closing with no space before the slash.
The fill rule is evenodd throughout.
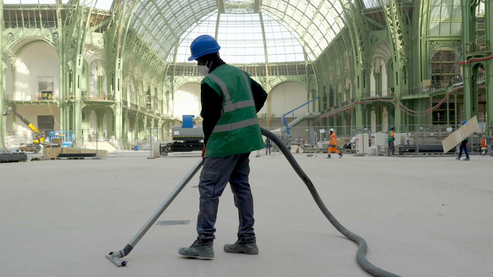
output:
<path id="1" fill-rule="evenodd" d="M 251 151 L 265 147 L 257 112 L 267 93 L 248 73 L 227 65 L 219 58 L 220 46 L 210 35 L 197 37 L 190 45 L 189 61 L 198 62 L 197 71 L 204 75 L 201 102 L 204 129 L 204 167 L 199 181 L 198 237 L 190 247 L 178 253 L 189 257 L 214 257 L 214 224 L 219 196 L 231 184 L 240 226 L 238 240 L 225 244 L 224 251 L 257 254 L 253 232 L 253 197 L 248 183 Z"/>

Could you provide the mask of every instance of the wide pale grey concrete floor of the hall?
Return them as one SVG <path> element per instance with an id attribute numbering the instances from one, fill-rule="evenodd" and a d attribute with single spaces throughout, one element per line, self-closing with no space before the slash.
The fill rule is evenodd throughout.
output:
<path id="1" fill-rule="evenodd" d="M 160 218 L 190 224 L 153 226 L 117 268 L 105 254 L 133 238 L 199 155 L 110 156 L 0 164 L 0 276 L 369 276 L 355 261 L 357 245 L 330 225 L 279 154 L 250 157 L 259 255 L 222 250 L 238 226 L 229 189 L 215 258 L 177 254 L 196 237 L 195 176 Z M 492 157 L 296 158 L 329 210 L 367 241 L 376 266 L 403 277 L 491 276 Z"/>

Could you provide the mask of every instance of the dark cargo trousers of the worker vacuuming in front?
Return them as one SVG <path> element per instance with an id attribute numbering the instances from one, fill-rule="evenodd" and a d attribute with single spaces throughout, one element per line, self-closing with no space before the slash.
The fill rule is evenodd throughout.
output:
<path id="1" fill-rule="evenodd" d="M 228 181 L 233 191 L 235 206 L 238 208 L 240 219 L 238 237 L 255 236 L 253 233 L 253 197 L 248 184 L 249 155 L 248 152 L 241 155 L 205 159 L 199 182 L 200 211 L 197 218 L 199 239 L 215 239 L 214 224 L 219 206 L 219 196 L 221 196 Z"/>

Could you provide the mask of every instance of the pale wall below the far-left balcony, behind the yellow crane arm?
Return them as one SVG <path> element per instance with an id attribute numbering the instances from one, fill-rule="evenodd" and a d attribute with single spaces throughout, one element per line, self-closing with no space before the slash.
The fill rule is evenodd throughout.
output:
<path id="1" fill-rule="evenodd" d="M 51 111 L 50 111 L 51 108 Z M 15 105 L 15 110 L 24 116 L 28 121 L 30 121 L 35 128 L 39 127 L 37 122 L 38 115 L 53 115 L 55 117 L 54 129 L 60 130 L 60 109 L 56 104 L 34 104 L 34 105 Z M 51 113 L 53 111 L 53 113 Z M 31 134 L 31 129 L 29 129 L 24 122 L 21 121 L 15 113 L 10 113 L 7 116 L 7 130 L 12 130 L 14 126 L 12 125 L 13 117 L 15 116 L 15 130 L 25 131 Z M 42 130 L 39 130 L 42 131 Z M 47 134 L 46 134 L 47 135 Z"/>

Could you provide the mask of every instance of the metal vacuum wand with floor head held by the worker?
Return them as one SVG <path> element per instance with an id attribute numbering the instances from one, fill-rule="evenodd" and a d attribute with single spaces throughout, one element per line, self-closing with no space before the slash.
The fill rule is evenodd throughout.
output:
<path id="1" fill-rule="evenodd" d="M 111 262 L 113 262 L 116 266 L 119 267 L 124 267 L 127 262 L 120 260 L 120 258 L 125 257 L 134 249 L 135 245 L 137 242 L 141 240 L 141 238 L 145 235 L 147 230 L 151 228 L 152 224 L 156 222 L 156 220 L 159 218 L 159 216 L 163 213 L 163 211 L 170 206 L 171 202 L 176 198 L 178 193 L 186 186 L 186 184 L 193 178 L 193 176 L 199 171 L 199 169 L 202 167 L 204 162 L 202 159 L 193 167 L 193 169 L 185 175 L 183 180 L 178 184 L 178 186 L 175 188 L 175 190 L 168 196 L 168 198 L 163 202 L 163 204 L 154 212 L 154 214 L 147 220 L 147 222 L 144 224 L 144 226 L 141 228 L 141 230 L 135 235 L 135 237 L 130 241 L 123 250 L 116 251 L 116 252 L 109 252 L 109 254 L 106 255 L 106 258 L 108 258 Z"/>

